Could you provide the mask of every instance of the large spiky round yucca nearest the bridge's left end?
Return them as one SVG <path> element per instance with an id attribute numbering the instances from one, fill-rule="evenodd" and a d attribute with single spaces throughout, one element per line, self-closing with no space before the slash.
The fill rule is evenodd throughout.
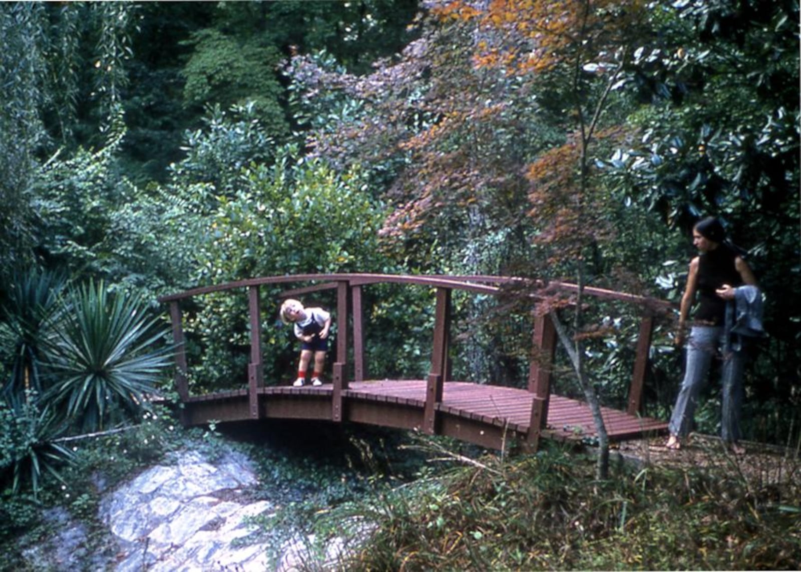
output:
<path id="1" fill-rule="evenodd" d="M 136 294 L 101 281 L 71 286 L 48 350 L 46 402 L 79 430 L 102 430 L 143 407 L 171 365 L 166 325 Z"/>

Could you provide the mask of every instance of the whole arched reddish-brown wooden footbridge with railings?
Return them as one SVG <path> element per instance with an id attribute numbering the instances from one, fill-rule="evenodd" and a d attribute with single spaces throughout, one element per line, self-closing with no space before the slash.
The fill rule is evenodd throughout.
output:
<path id="1" fill-rule="evenodd" d="M 430 373 L 425 379 L 369 378 L 364 363 L 364 288 L 376 284 L 404 284 L 433 290 L 435 323 L 432 332 Z M 250 278 L 206 286 L 160 298 L 169 305 L 175 342 L 175 386 L 183 402 L 183 423 L 201 425 L 210 421 L 248 419 L 308 419 L 354 422 L 421 430 L 443 434 L 481 446 L 501 449 L 515 439 L 536 449 L 541 438 L 561 440 L 593 438 L 596 431 L 586 403 L 552 394 L 551 366 L 556 350 L 556 333 L 548 314 L 532 311 L 529 378 L 525 389 L 454 380 L 450 376 L 452 294 L 461 290 L 473 294 L 500 296 L 520 278 L 488 276 L 400 276 L 385 274 L 302 274 Z M 266 384 L 263 375 L 262 302 L 260 288 L 276 285 L 312 284 L 283 290 L 281 296 L 302 298 L 322 290 L 336 290 L 332 316 L 338 326 L 335 347 L 329 352 L 332 382 L 320 387 Z M 283 287 L 283 286 L 279 286 Z M 577 288 L 558 284 L 570 292 Z M 215 292 L 248 295 L 250 362 L 248 385 L 237 390 L 207 394 L 190 391 L 187 382 L 187 351 L 182 306 L 192 298 Z M 586 299 L 603 298 L 642 308 L 636 358 L 626 410 L 602 409 L 611 441 L 663 433 L 666 422 L 642 418 L 642 386 L 653 331 L 653 311 L 646 298 L 587 287 Z M 653 306 L 650 306 L 653 308 Z M 531 305 L 533 310 L 533 302 Z M 243 316 L 243 319 L 245 317 Z M 222 335 L 222 334 L 221 334 Z M 351 362 L 348 362 L 348 357 Z"/>

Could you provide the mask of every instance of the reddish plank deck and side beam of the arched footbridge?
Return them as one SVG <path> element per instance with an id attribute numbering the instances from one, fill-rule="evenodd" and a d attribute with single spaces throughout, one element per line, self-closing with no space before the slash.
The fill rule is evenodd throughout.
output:
<path id="1" fill-rule="evenodd" d="M 184 402 L 189 425 L 253 418 L 294 418 L 335 421 L 333 386 L 268 386 L 259 388 L 257 410 L 250 407 L 248 390 L 192 396 Z M 407 430 L 424 430 L 426 382 L 372 380 L 350 382 L 342 391 L 342 421 Z M 501 449 L 510 438 L 529 435 L 533 394 L 511 387 L 445 382 L 437 404 L 437 434 Z M 667 423 L 603 408 L 611 442 L 666 432 Z M 552 394 L 548 421 L 541 436 L 562 441 L 593 439 L 595 426 L 589 406 Z"/>

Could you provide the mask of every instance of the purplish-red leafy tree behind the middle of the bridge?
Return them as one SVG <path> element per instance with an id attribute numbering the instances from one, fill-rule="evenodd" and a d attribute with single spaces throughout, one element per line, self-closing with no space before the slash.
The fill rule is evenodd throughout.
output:
<path id="1" fill-rule="evenodd" d="M 419 27 L 421 38 L 366 78 L 326 54 L 293 58 L 292 101 L 313 118 L 315 153 L 359 162 L 392 201 L 382 237 L 399 260 L 502 274 L 530 254 L 522 161 L 555 132 L 517 79 L 473 66 L 469 26 Z M 511 256 L 479 259 L 492 241 Z"/>

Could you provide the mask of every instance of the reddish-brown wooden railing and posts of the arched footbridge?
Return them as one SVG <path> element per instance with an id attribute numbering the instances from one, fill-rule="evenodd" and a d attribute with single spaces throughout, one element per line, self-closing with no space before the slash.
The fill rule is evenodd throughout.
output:
<path id="1" fill-rule="evenodd" d="M 250 361 L 248 363 L 248 398 L 252 418 L 260 415 L 259 394 L 264 387 L 264 363 L 262 348 L 262 318 L 260 288 L 265 285 L 292 284 L 314 282 L 312 286 L 304 286 L 292 290 L 284 290 L 282 297 L 301 297 L 304 294 L 321 290 L 336 290 L 336 360 L 333 362 L 332 374 L 332 420 L 341 421 L 343 416 L 343 391 L 348 389 L 348 349 L 352 338 L 352 378 L 360 382 L 364 380 L 364 323 L 363 323 L 363 288 L 372 284 L 406 284 L 425 286 L 435 290 L 436 307 L 434 312 L 434 328 L 432 340 L 431 363 L 426 380 L 424 427 L 428 433 L 437 432 L 437 408 L 442 401 L 445 382 L 450 380 L 449 346 L 452 326 L 452 296 L 454 290 L 463 290 L 473 294 L 490 294 L 500 296 L 510 288 L 536 292 L 538 285 L 521 278 L 502 276 L 407 276 L 396 274 L 296 274 L 292 276 L 272 276 L 248 278 L 236 282 L 227 282 L 214 286 L 203 286 L 186 290 L 178 294 L 170 294 L 159 298 L 170 308 L 173 342 L 175 343 L 175 388 L 179 397 L 187 401 L 190 396 L 188 384 L 188 364 L 186 339 L 183 332 L 183 315 L 181 302 L 195 296 L 211 294 L 224 290 L 245 289 L 248 292 L 248 322 L 250 326 Z M 549 287 L 570 294 L 578 292 L 578 286 L 551 282 Z M 651 338 L 654 330 L 654 315 L 658 311 L 670 308 L 667 302 L 654 301 L 634 294 L 614 292 L 586 286 L 582 293 L 594 298 L 615 300 L 634 304 L 642 309 L 638 342 L 635 350 L 634 370 L 629 387 L 627 411 L 636 414 L 642 402 L 642 387 L 646 376 L 647 360 L 650 352 Z M 537 294 L 532 294 L 531 310 L 533 314 L 532 351 L 529 361 L 528 390 L 533 394 L 529 442 L 536 447 L 541 430 L 545 428 L 548 416 L 548 404 L 551 386 L 551 364 L 557 347 L 557 336 L 549 314 L 538 314 L 533 311 Z M 350 320 L 348 319 L 350 318 Z M 348 331 L 348 323 L 351 323 Z"/>

